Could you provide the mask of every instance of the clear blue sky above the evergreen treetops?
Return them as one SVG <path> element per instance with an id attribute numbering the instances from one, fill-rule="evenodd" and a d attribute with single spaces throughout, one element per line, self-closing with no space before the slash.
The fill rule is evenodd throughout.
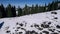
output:
<path id="1" fill-rule="evenodd" d="M 4 6 L 8 4 L 15 5 L 16 7 L 24 7 L 25 4 L 31 6 L 32 4 L 44 5 L 45 3 L 48 4 L 53 0 L 0 0 L 0 4 L 2 3 Z"/>

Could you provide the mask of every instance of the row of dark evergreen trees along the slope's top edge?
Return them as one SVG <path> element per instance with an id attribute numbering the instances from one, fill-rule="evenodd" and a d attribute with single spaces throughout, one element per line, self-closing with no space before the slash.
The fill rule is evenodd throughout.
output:
<path id="1" fill-rule="evenodd" d="M 60 3 L 60 1 L 53 1 L 52 3 L 49 3 L 48 5 L 45 4 L 44 6 L 39 6 L 38 4 L 34 6 L 32 4 L 31 7 L 25 4 L 24 8 L 21 8 L 20 6 L 16 8 L 15 6 L 11 6 L 11 4 L 8 4 L 7 7 L 4 7 L 3 4 L 1 4 L 0 5 L 0 18 L 16 17 L 16 16 L 57 10 L 57 9 L 60 9 L 60 7 L 58 7 L 58 3 Z M 18 11 L 17 12 L 18 14 L 16 14 L 16 11 Z"/>

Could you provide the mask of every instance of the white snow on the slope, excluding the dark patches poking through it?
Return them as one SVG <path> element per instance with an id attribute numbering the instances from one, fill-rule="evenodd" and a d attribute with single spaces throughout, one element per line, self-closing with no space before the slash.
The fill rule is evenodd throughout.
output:
<path id="1" fill-rule="evenodd" d="M 51 12 L 57 12 L 57 14 L 51 14 Z M 54 17 L 57 17 L 58 19 L 54 19 Z M 26 31 L 35 30 L 36 32 L 39 33 L 39 32 L 42 32 L 43 30 L 46 30 L 46 31 L 48 31 L 48 30 L 47 30 L 47 28 L 45 28 L 42 31 L 39 31 L 35 27 L 30 27 L 30 26 L 34 25 L 34 24 L 41 25 L 43 22 L 52 22 L 52 24 L 50 26 L 54 26 L 52 28 L 59 30 L 56 28 L 56 25 L 60 25 L 60 10 L 55 10 L 55 11 L 50 11 L 50 12 L 45 12 L 45 13 L 30 14 L 30 15 L 25 15 L 25 16 L 21 16 L 21 17 L 2 18 L 2 19 L 0 19 L 0 23 L 1 22 L 4 22 L 4 25 L 0 29 L 0 34 L 16 33 L 15 30 L 17 29 L 17 27 L 21 27 L 19 25 L 16 25 L 16 23 L 19 23 L 19 24 L 23 23 L 24 26 L 22 26 L 21 28 L 25 28 Z M 10 30 L 11 32 L 6 33 L 7 30 Z M 20 32 L 20 31 L 24 32 L 23 34 L 25 34 L 24 30 L 19 29 L 18 32 Z"/>

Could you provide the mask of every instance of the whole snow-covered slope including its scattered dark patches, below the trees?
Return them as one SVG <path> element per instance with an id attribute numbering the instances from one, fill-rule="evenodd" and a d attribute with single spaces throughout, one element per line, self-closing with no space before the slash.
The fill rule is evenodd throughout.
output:
<path id="1" fill-rule="evenodd" d="M 30 14 L 14 18 L 2 18 L 0 34 L 60 34 L 60 10 Z"/>

